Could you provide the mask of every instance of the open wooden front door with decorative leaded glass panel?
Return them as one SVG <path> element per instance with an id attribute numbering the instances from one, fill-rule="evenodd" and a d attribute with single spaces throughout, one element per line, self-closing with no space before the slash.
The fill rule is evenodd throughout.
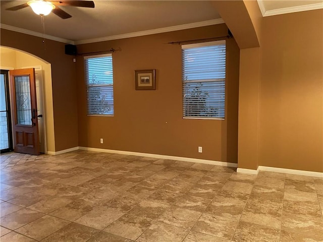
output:
<path id="1" fill-rule="evenodd" d="M 35 70 L 10 70 L 14 151 L 39 155 Z"/>

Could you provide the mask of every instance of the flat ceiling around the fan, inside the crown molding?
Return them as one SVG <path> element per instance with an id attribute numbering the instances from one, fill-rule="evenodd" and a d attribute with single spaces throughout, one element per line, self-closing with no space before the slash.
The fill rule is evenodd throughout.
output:
<path id="1" fill-rule="evenodd" d="M 1 1 L 1 23 L 42 33 L 31 8 L 7 11 L 27 1 Z M 95 8 L 60 7 L 73 17 L 45 16 L 45 34 L 85 40 L 219 19 L 209 1 L 94 1 Z"/>

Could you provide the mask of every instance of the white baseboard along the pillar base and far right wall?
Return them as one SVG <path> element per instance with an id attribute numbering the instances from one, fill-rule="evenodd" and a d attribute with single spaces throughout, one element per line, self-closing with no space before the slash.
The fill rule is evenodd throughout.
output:
<path id="1" fill-rule="evenodd" d="M 308 170 L 294 170 L 294 169 L 286 169 L 286 168 L 278 168 L 278 167 L 270 167 L 270 166 L 262 166 L 262 165 L 259 165 L 258 169 L 256 170 L 237 168 L 237 172 L 245 173 L 245 174 L 258 174 L 259 170 L 286 173 L 286 174 L 295 174 L 295 175 L 307 175 L 307 176 L 323 178 L 323 172 L 308 171 Z"/>

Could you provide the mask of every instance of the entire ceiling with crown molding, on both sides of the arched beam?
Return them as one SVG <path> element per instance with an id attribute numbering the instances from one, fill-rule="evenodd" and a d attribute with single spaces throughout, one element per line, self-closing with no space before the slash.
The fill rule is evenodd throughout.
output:
<path id="1" fill-rule="evenodd" d="M 257 1 L 263 16 L 309 10 L 308 6 L 312 9 L 323 8 L 323 0 Z M 1 27 L 26 33 L 34 31 L 41 35 L 43 33 L 41 18 L 29 7 L 18 11 L 6 10 L 26 2 L 0 1 Z M 63 20 L 52 13 L 45 16 L 45 34 L 61 38 L 59 40 L 63 42 L 86 43 L 223 22 L 211 1 L 96 0 L 94 4 L 94 9 L 61 7 L 73 16 L 70 19 Z M 279 12 L 282 10 L 285 12 Z M 31 34 L 37 35 L 37 33 Z"/>

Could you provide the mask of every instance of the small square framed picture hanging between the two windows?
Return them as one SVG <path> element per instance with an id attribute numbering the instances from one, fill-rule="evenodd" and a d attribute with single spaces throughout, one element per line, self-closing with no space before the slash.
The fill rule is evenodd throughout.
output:
<path id="1" fill-rule="evenodd" d="M 136 90 L 156 90 L 156 70 L 135 70 Z"/>

